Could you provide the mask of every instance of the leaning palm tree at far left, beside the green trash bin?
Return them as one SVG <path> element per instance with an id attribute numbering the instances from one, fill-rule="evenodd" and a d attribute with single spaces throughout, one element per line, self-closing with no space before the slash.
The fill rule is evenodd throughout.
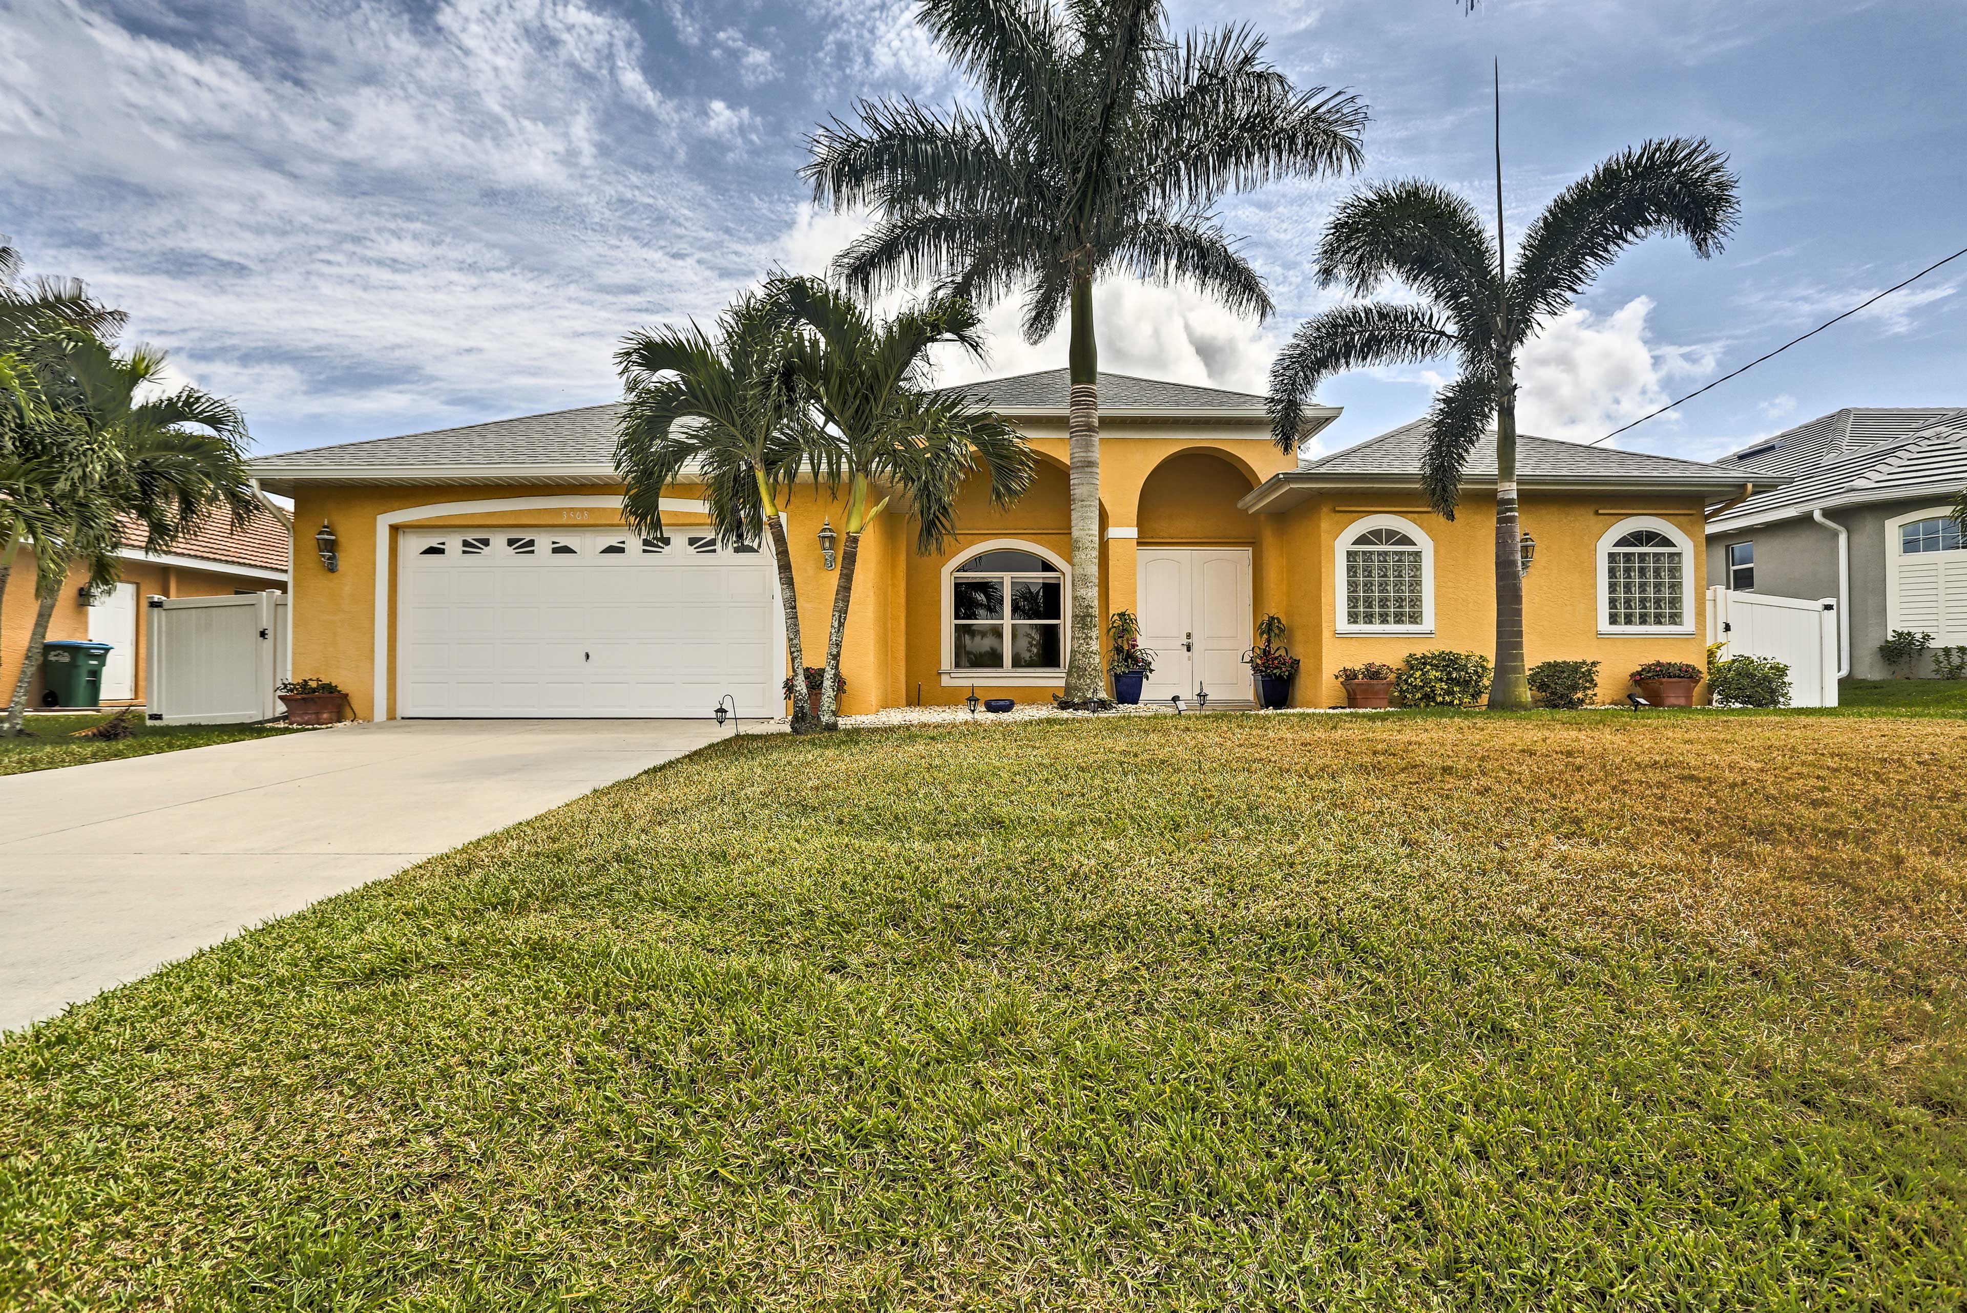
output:
<path id="1" fill-rule="evenodd" d="M 144 529 L 149 550 L 167 550 L 212 509 L 244 525 L 258 507 L 246 474 L 244 417 L 197 387 L 159 393 L 163 352 L 138 346 L 118 356 L 94 334 L 69 326 L 43 334 L 31 364 L 53 411 L 41 434 L 41 468 L 49 454 L 83 460 L 65 480 L 39 487 L 37 519 L 28 525 L 28 544 L 41 562 L 39 607 L 8 704 L 10 737 L 22 733 L 28 684 L 71 570 L 87 568 L 90 584 L 112 584 L 126 525 Z"/>

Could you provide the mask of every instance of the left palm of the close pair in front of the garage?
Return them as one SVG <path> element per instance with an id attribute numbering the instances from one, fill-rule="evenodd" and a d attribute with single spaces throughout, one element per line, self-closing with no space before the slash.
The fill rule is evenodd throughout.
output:
<path id="1" fill-rule="evenodd" d="M 793 368 L 797 334 L 769 299 L 745 293 L 718 316 L 712 340 L 688 328 L 645 328 L 616 352 L 627 405 L 616 428 L 622 515 L 663 537 L 663 489 L 704 485 L 710 523 L 726 542 L 771 533 L 793 660 L 793 733 L 812 729 L 799 590 L 785 535 L 783 493 L 808 466 L 808 432 Z"/>

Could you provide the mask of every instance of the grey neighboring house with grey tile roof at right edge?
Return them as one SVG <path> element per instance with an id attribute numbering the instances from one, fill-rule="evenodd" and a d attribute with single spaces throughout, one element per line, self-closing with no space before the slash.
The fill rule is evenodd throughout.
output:
<path id="1" fill-rule="evenodd" d="M 1758 489 L 1764 472 L 1788 482 L 1709 517 L 1715 584 L 1839 598 L 1845 664 L 1859 678 L 1890 674 L 1878 645 L 1894 629 L 1967 643 L 1967 541 L 1949 519 L 1967 487 L 1967 407 L 1845 409 L 1723 464 Z"/>

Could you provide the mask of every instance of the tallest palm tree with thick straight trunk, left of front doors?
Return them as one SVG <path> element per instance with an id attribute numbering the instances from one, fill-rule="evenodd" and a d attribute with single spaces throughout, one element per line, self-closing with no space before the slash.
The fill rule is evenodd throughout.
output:
<path id="1" fill-rule="evenodd" d="M 921 22 L 985 108 L 862 102 L 810 138 L 812 195 L 879 222 L 842 252 L 848 289 L 923 279 L 980 305 L 1025 293 L 1025 336 L 1070 322 L 1072 655 L 1062 702 L 1100 670 L 1100 352 L 1094 281 L 1186 279 L 1231 309 L 1271 297 L 1212 214 L 1225 191 L 1359 163 L 1365 108 L 1296 90 L 1245 28 L 1166 31 L 1162 0 L 924 0 Z"/>

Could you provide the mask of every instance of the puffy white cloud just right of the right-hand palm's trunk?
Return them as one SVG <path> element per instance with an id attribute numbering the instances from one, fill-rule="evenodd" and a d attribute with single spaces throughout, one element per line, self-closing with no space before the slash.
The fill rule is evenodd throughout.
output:
<path id="1" fill-rule="evenodd" d="M 1611 314 L 1570 309 L 1532 338 L 1519 360 L 1517 421 L 1524 432 L 1572 442 L 1603 438 L 1672 397 L 1668 379 L 1713 373 L 1715 348 L 1650 340 L 1650 297 Z M 1678 423 L 1668 411 L 1658 423 Z"/>

